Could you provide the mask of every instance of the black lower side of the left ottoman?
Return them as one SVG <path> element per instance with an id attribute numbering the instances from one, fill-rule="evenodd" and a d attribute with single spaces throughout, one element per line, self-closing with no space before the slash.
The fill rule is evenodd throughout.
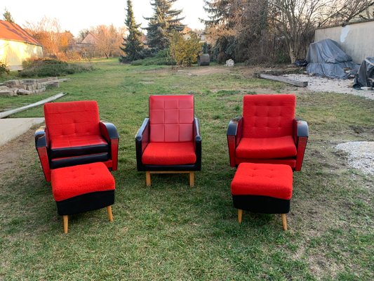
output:
<path id="1" fill-rule="evenodd" d="M 91 192 L 63 201 L 56 201 L 60 216 L 93 211 L 114 204 L 114 190 Z"/>

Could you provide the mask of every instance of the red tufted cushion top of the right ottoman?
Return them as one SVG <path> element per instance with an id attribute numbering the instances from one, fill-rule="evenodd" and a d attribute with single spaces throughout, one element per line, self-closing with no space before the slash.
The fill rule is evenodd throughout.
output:
<path id="1" fill-rule="evenodd" d="M 232 195 L 292 197 L 293 173 L 288 165 L 241 163 L 231 183 Z"/>

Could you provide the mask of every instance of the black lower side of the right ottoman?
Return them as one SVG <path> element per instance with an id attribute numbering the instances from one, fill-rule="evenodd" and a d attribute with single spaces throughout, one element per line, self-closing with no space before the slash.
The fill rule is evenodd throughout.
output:
<path id="1" fill-rule="evenodd" d="M 290 211 L 290 201 L 261 195 L 232 195 L 236 209 L 262 214 L 287 214 Z"/>

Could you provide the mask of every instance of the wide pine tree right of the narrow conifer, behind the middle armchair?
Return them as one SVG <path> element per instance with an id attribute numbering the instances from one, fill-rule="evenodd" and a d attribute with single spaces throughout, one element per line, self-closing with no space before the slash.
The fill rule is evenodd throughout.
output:
<path id="1" fill-rule="evenodd" d="M 173 32 L 180 32 L 185 25 L 180 23 L 184 18 L 178 18 L 182 10 L 172 9 L 173 3 L 177 0 L 154 0 L 151 1 L 154 15 L 149 20 L 147 30 L 147 44 L 154 52 L 158 52 L 170 45 Z"/>

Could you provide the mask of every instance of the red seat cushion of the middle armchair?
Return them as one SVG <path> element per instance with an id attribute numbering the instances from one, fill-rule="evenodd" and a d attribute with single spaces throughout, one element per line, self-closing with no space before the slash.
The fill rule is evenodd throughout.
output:
<path id="1" fill-rule="evenodd" d="M 194 143 L 149 143 L 142 155 L 142 163 L 148 165 L 194 164 Z"/>

